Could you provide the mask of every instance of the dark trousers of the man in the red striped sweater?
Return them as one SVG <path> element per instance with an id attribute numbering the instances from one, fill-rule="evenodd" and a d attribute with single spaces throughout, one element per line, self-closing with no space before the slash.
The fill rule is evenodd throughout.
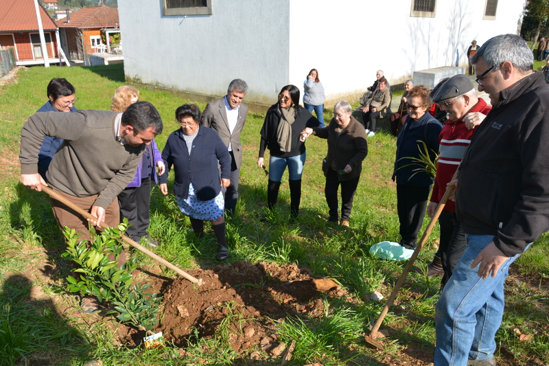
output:
<path id="1" fill-rule="evenodd" d="M 441 225 L 439 252 L 441 253 L 442 267 L 444 269 L 441 284 L 444 288 L 444 285 L 448 282 L 450 276 L 452 276 L 463 251 L 465 251 L 467 240 L 465 240 L 465 233 L 461 229 L 461 224 L 454 212 L 443 209 L 439 217 L 439 225 Z"/>

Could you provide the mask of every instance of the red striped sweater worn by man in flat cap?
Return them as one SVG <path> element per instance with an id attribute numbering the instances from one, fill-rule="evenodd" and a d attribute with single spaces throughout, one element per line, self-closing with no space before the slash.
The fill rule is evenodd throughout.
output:
<path id="1" fill-rule="evenodd" d="M 487 115 L 491 110 L 491 106 L 487 106 L 483 99 L 479 99 L 478 103 L 468 113 L 480 112 Z M 436 177 L 434 179 L 433 192 L 431 194 L 431 202 L 439 203 L 446 191 L 446 184 L 452 180 L 454 173 L 458 169 L 463 154 L 469 144 L 471 138 L 478 128 L 467 130 L 463 118 L 453 122 L 449 119 L 445 122 L 444 128 L 439 135 L 439 162 L 436 163 Z M 456 212 L 456 203 L 447 201 L 444 209 L 450 212 Z"/>

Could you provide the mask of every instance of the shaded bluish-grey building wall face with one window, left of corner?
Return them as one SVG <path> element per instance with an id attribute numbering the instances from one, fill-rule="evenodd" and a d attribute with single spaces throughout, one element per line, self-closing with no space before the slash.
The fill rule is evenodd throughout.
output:
<path id="1" fill-rule="evenodd" d="M 161 0 L 119 0 L 124 72 L 158 87 L 272 104 L 288 80 L 289 0 L 213 0 L 213 14 L 162 16 Z"/>

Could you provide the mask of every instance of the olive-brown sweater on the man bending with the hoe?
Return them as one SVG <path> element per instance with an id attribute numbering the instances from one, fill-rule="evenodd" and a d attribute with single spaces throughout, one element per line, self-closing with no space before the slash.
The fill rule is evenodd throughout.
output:
<path id="1" fill-rule="evenodd" d="M 71 196 L 99 194 L 94 206 L 106 209 L 135 176 L 145 146 L 116 141 L 116 112 L 38 112 L 21 130 L 21 174 L 38 172 L 38 151 L 45 136 L 65 139 L 51 159 L 48 184 Z"/>

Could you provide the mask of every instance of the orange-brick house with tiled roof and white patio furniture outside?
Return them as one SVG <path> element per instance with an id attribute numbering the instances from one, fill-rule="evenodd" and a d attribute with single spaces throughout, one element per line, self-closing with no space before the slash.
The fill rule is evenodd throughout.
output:
<path id="1" fill-rule="evenodd" d="M 70 60 L 84 60 L 84 54 L 121 52 L 116 8 L 105 5 L 82 8 L 56 24 Z"/>

